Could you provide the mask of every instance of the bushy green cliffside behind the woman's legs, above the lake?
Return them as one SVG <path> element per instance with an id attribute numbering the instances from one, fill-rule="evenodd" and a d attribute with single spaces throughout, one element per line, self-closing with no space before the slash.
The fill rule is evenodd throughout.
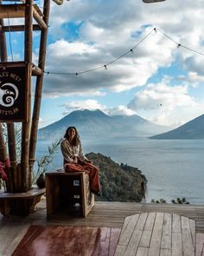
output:
<path id="1" fill-rule="evenodd" d="M 124 202 L 142 200 L 141 182 L 147 180 L 137 167 L 118 164 L 110 157 L 99 153 L 89 153 L 86 157 L 99 167 L 102 197 L 96 196 L 96 200 Z"/>

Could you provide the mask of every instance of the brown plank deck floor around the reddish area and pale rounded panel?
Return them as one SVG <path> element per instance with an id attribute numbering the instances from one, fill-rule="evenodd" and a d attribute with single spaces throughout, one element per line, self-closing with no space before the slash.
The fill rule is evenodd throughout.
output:
<path id="1" fill-rule="evenodd" d="M 3 217 L 0 215 L 0 255 L 12 255 L 16 246 L 28 231 L 29 226 L 32 225 L 122 228 L 126 217 L 146 212 L 176 213 L 195 220 L 195 246 L 197 250 L 195 255 L 204 256 L 204 206 L 96 202 L 95 207 L 92 208 L 91 213 L 86 218 L 73 218 L 67 217 L 66 214 L 56 214 L 47 220 L 45 200 L 41 200 L 37 205 L 35 213 L 30 214 L 26 218 Z M 107 254 L 101 255 L 106 256 Z"/>

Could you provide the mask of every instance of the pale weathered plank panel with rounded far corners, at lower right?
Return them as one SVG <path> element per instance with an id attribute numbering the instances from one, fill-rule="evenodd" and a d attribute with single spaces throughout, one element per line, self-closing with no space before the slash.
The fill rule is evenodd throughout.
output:
<path id="1" fill-rule="evenodd" d="M 172 213 L 140 213 L 124 220 L 115 256 L 194 256 L 195 221 Z"/>

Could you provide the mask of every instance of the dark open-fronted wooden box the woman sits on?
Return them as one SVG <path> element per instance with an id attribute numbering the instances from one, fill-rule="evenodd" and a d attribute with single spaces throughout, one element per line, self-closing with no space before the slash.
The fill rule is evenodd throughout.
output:
<path id="1" fill-rule="evenodd" d="M 89 175 L 84 172 L 65 173 L 64 170 L 46 174 L 47 217 L 67 213 L 86 217 L 94 206 Z"/>

